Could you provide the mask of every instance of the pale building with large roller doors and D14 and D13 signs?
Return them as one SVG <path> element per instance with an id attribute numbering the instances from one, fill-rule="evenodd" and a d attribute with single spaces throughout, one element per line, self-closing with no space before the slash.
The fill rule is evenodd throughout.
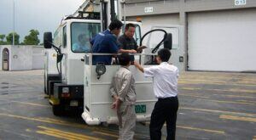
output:
<path id="1" fill-rule="evenodd" d="M 181 27 L 172 49 L 180 70 L 256 71 L 256 0 L 125 0 L 124 9 L 143 33 Z"/>

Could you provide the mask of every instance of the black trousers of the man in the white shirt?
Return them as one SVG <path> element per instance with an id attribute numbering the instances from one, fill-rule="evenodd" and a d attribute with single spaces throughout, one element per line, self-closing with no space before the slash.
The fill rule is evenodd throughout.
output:
<path id="1" fill-rule="evenodd" d="M 178 99 L 159 98 L 151 114 L 149 125 L 150 139 L 160 140 L 161 129 L 166 122 L 167 140 L 175 139 L 176 120 L 177 120 Z"/>

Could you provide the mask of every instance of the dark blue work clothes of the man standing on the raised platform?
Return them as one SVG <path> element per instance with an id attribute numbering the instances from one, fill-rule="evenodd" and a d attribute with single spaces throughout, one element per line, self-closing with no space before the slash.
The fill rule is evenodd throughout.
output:
<path id="1" fill-rule="evenodd" d="M 119 45 L 117 37 L 114 36 L 109 30 L 98 33 L 91 39 L 92 53 L 118 53 Z M 103 63 L 111 64 L 112 56 L 96 56 L 92 57 L 92 64 Z"/>

